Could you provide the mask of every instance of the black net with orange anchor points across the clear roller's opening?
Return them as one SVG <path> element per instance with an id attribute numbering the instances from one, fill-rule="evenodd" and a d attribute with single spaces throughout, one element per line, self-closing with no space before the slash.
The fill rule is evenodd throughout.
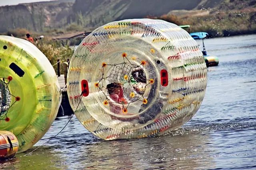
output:
<path id="1" fill-rule="evenodd" d="M 125 53 L 124 56 L 126 56 Z M 106 96 L 104 104 L 122 104 L 124 112 L 132 102 L 139 100 L 146 104 L 147 100 L 143 95 L 148 84 L 152 84 L 154 80 L 147 80 L 144 72 L 145 64 L 145 61 L 141 61 L 140 65 L 133 64 L 126 57 L 123 63 L 102 63 L 100 72 L 102 78 L 95 86 L 100 88 Z"/>

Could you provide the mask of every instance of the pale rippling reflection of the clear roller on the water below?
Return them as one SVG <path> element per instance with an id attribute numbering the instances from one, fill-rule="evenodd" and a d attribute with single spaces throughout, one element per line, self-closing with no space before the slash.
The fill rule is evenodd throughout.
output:
<path id="1" fill-rule="evenodd" d="M 172 166 L 203 168 L 204 164 L 210 164 L 212 159 L 207 153 L 204 154 L 206 148 L 203 145 L 208 143 L 207 138 L 207 135 L 200 137 L 185 135 L 96 143 L 80 150 L 80 158 L 72 162 L 69 168 L 158 169 Z M 63 151 L 62 154 L 68 152 Z M 72 154 L 77 153 L 75 151 Z"/>

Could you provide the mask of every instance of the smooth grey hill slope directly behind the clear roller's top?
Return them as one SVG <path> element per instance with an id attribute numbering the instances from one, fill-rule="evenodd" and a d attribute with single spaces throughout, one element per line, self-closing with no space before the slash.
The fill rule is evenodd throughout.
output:
<path id="1" fill-rule="evenodd" d="M 214 8 L 224 0 L 76 0 L 69 22 L 81 21 L 85 27 L 98 27 L 105 23 L 129 18 L 162 16 L 172 10 L 200 10 Z M 82 17 L 80 17 L 82 16 Z"/>

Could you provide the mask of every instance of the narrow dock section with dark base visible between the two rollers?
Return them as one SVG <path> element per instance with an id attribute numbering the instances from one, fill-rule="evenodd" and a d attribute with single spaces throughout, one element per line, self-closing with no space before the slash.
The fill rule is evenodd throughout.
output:
<path id="1" fill-rule="evenodd" d="M 62 89 L 62 101 L 61 101 L 61 106 L 60 106 L 57 117 L 61 117 L 63 115 L 71 115 L 74 113 L 74 111 L 72 110 L 70 103 L 68 101 L 68 93 L 67 93 L 67 87 L 65 87 L 66 84 L 65 84 L 64 74 L 61 74 L 60 76 L 58 76 L 58 82 L 60 84 L 60 88 Z M 62 113 L 61 107 L 63 108 L 64 113 Z"/>

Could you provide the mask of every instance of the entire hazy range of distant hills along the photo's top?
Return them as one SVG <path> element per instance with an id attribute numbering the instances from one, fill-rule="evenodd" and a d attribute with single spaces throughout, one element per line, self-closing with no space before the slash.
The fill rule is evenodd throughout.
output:
<path id="1" fill-rule="evenodd" d="M 115 20 L 145 18 L 214 8 L 255 8 L 256 0 L 56 0 L 0 7 L 0 32 L 25 28 L 32 31 L 64 28 L 71 23 L 82 28 L 98 27 Z"/>

